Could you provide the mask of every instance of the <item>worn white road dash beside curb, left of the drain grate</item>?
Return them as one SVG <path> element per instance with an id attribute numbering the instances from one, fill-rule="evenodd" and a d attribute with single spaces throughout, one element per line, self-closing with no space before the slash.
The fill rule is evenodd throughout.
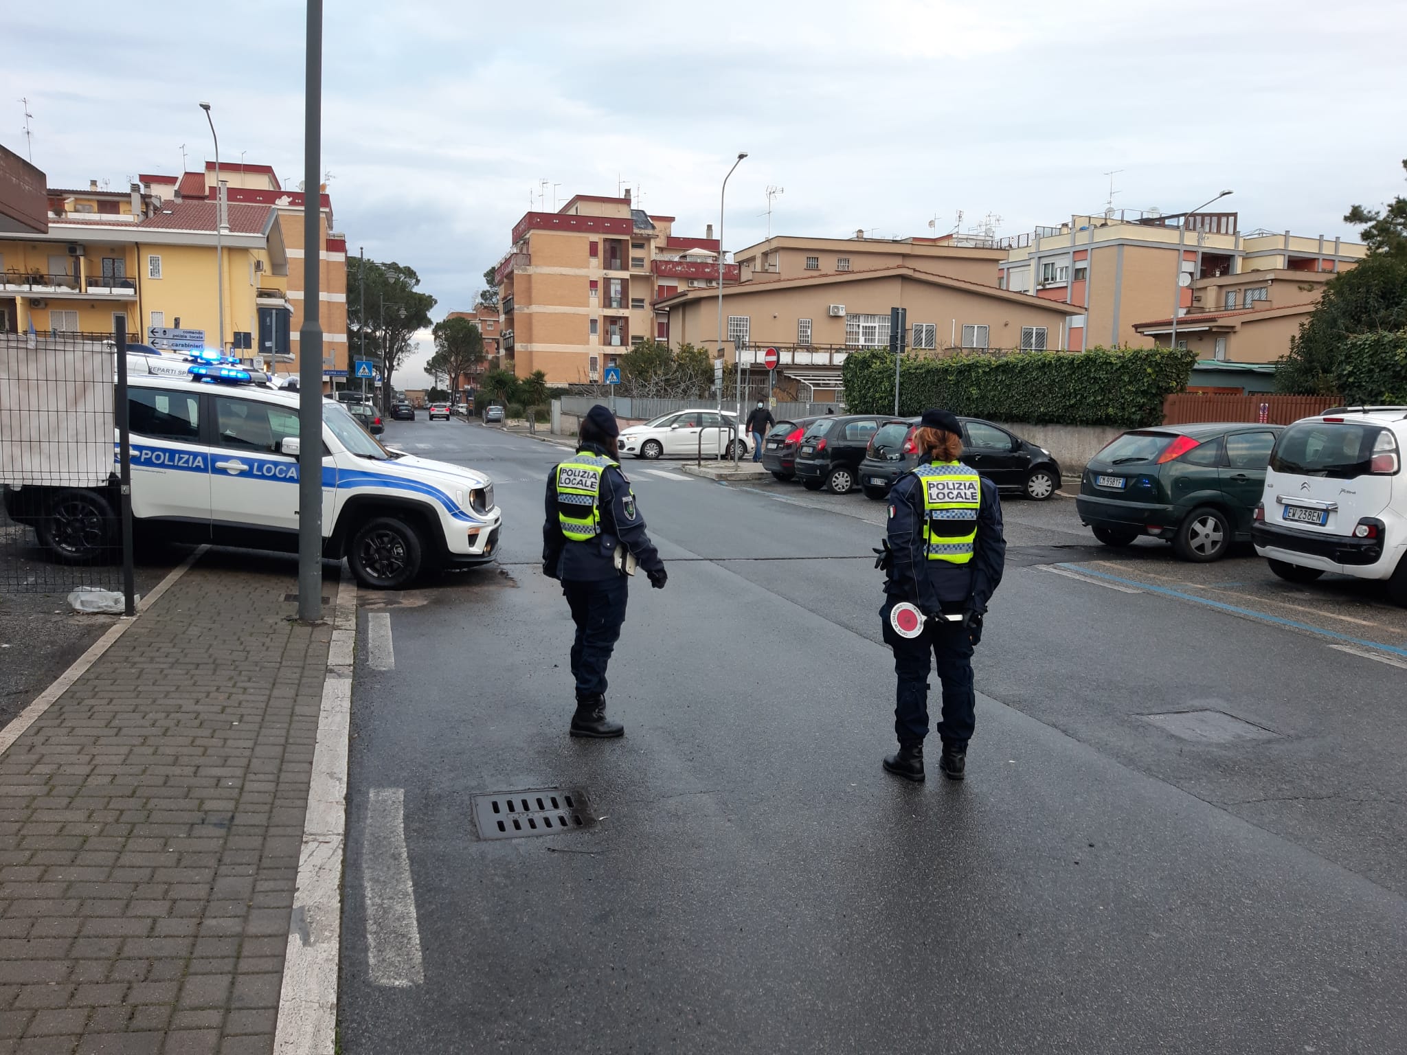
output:
<path id="1" fill-rule="evenodd" d="M 425 982 L 415 888 L 405 852 L 405 791 L 373 788 L 362 844 L 366 958 L 371 982 L 405 989 Z"/>

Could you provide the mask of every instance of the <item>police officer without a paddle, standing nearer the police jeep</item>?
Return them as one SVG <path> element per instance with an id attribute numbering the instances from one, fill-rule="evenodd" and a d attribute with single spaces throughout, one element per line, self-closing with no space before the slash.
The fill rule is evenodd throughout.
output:
<path id="1" fill-rule="evenodd" d="M 561 581 L 577 625 L 571 736 L 625 734 L 625 726 L 606 717 L 605 692 L 606 664 L 625 622 L 628 560 L 639 561 L 656 589 L 664 589 L 668 580 L 620 471 L 619 435 L 615 415 L 597 404 L 581 421 L 577 453 L 547 477 L 542 573 Z"/>

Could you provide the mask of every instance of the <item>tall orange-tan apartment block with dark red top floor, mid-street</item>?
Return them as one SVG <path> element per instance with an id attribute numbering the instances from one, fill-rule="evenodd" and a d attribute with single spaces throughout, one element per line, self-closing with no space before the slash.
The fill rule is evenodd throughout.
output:
<path id="1" fill-rule="evenodd" d="M 577 194 L 556 212 L 526 212 L 495 269 L 502 349 L 519 377 L 595 381 L 630 345 L 670 339 L 657 301 L 716 288 L 719 242 L 674 234 L 674 217 L 622 197 Z M 723 263 L 725 281 L 737 264 Z"/>

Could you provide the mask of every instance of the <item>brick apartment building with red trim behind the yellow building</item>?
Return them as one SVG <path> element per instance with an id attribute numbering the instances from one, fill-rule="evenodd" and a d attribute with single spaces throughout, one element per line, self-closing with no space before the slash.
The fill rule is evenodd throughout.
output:
<path id="1" fill-rule="evenodd" d="M 163 200 L 214 201 L 215 163 L 205 162 L 204 170 L 186 172 L 180 176 L 142 174 L 144 190 L 159 194 Z M 293 304 L 290 325 L 291 359 L 273 364 L 277 373 L 298 373 L 298 329 L 303 326 L 303 246 L 304 193 L 283 190 L 279 176 L 269 165 L 241 165 L 224 162 L 219 166 L 219 181 L 225 184 L 225 200 L 234 204 L 267 205 L 279 212 L 284 245 L 290 260 L 287 286 L 288 301 Z M 348 377 L 350 369 L 348 354 L 348 266 L 346 236 L 333 228 L 332 198 L 326 186 L 318 188 L 319 221 L 318 243 L 322 246 L 318 266 L 319 321 L 322 322 L 322 380 L 325 387 L 333 378 Z"/>

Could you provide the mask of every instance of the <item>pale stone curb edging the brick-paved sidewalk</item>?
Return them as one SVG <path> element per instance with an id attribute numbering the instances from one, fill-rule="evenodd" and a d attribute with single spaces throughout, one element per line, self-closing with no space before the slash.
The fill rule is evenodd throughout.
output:
<path id="1" fill-rule="evenodd" d="M 338 584 L 318 710 L 318 741 L 279 993 L 273 1045 L 277 1055 L 333 1055 L 336 1044 L 356 610 L 356 581 L 348 578 Z"/>

